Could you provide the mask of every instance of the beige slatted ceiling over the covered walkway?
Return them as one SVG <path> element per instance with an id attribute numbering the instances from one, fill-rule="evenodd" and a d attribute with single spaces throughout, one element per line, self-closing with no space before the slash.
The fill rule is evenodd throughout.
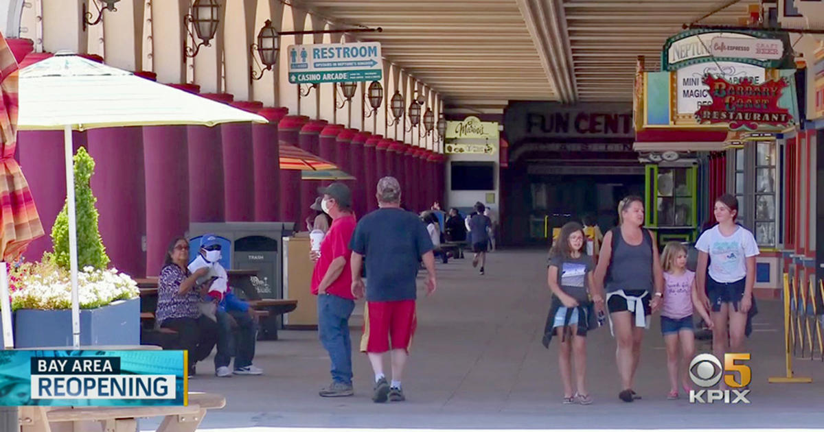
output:
<path id="1" fill-rule="evenodd" d="M 704 21 L 737 24 L 742 0 Z M 658 67 L 664 40 L 720 0 L 292 0 L 339 25 L 382 27 L 391 62 L 452 111 L 508 100 L 632 100 L 635 59 Z"/>

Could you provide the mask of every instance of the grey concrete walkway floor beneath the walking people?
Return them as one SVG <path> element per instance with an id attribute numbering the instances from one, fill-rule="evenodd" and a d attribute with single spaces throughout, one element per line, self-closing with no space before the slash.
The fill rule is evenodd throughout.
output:
<path id="1" fill-rule="evenodd" d="M 419 284 L 419 331 L 404 380 L 407 402 L 375 404 L 373 375 L 356 353 L 355 396 L 326 399 L 329 360 L 316 332 L 282 332 L 259 342 L 255 365 L 263 377 L 213 376 L 211 360 L 190 381 L 194 391 L 222 393 L 227 406 L 206 416 L 203 427 L 274 428 L 480 428 L 652 429 L 798 428 L 824 425 L 824 363 L 796 360 L 796 374 L 812 384 L 770 384 L 784 373 L 780 304 L 761 301 L 747 348 L 752 353 L 751 405 L 691 405 L 667 401 L 666 354 L 658 317 L 644 339 L 637 391 L 644 399 L 620 402 L 615 341 L 602 328 L 588 337 L 592 406 L 564 406 L 557 344 L 546 350 L 541 332 L 550 304 L 544 251 L 489 254 L 486 276 L 470 259 L 438 264 L 438 292 L 424 297 Z M 358 310 L 362 309 L 359 305 Z M 360 323 L 355 317 L 353 323 Z M 353 330 L 359 340 L 360 329 Z M 700 351 L 709 351 L 705 342 Z M 142 429 L 156 425 L 143 420 Z"/>

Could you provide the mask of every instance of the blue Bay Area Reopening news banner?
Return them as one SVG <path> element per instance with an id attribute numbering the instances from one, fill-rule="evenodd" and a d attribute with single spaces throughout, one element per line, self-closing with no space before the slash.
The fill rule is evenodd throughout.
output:
<path id="1" fill-rule="evenodd" d="M 0 406 L 181 406 L 185 351 L 0 351 Z"/>

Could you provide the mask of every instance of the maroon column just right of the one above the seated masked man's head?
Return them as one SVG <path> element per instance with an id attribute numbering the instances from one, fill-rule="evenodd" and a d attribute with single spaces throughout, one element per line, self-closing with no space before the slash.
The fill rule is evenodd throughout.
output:
<path id="1" fill-rule="evenodd" d="M 262 102 L 235 102 L 232 106 L 256 113 Z M 226 190 L 226 220 L 255 220 L 255 160 L 252 123 L 226 123 L 223 138 L 223 183 Z"/>

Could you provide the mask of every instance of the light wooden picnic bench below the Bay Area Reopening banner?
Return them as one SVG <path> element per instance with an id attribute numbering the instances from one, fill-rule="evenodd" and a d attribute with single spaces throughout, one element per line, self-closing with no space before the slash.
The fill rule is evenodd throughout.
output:
<path id="1" fill-rule="evenodd" d="M 78 431 L 134 432 L 138 418 L 163 416 L 157 432 L 194 432 L 208 410 L 224 406 L 226 398 L 219 394 L 194 392 L 189 393 L 188 406 L 22 406 L 20 425 L 21 432 L 51 432 L 61 423 L 71 423 Z"/>

